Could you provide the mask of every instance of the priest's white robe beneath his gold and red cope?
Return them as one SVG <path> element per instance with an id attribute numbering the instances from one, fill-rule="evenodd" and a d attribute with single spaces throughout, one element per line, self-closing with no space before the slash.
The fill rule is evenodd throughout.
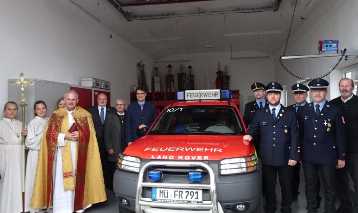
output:
<path id="1" fill-rule="evenodd" d="M 67 109 L 66 109 L 67 110 Z M 76 109 L 75 109 L 76 110 Z M 72 112 L 68 111 L 69 114 L 69 127 L 72 125 L 75 120 L 73 119 Z M 65 146 L 66 139 L 64 138 L 63 133 L 59 133 L 57 138 L 57 151 L 54 161 L 53 168 L 53 212 L 54 213 L 72 213 L 73 204 L 75 200 L 75 191 L 64 191 L 63 189 L 63 171 L 62 171 L 62 149 L 61 147 Z M 76 144 L 77 141 L 71 140 L 71 157 L 72 157 L 72 170 L 73 177 L 75 180 L 76 177 Z M 76 212 L 83 212 L 86 208 L 91 207 L 92 204 L 87 205 L 84 209 L 78 210 Z"/>

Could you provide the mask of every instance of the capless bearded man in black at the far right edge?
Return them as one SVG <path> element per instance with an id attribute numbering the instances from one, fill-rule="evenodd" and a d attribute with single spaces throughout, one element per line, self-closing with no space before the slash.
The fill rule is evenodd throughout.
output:
<path id="1" fill-rule="evenodd" d="M 358 212 L 358 97 L 353 94 L 354 82 L 352 79 L 343 78 L 339 82 L 341 96 L 333 99 L 330 103 L 340 106 L 344 117 L 347 135 L 346 165 L 342 169 L 335 171 L 335 183 L 338 199 L 341 205 L 337 213 L 357 213 Z M 349 188 L 349 178 L 353 180 L 354 187 L 354 207 L 351 202 L 351 190 Z"/>

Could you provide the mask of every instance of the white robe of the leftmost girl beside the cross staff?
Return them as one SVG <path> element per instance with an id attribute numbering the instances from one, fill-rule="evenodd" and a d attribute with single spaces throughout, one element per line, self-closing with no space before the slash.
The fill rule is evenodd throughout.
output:
<path id="1" fill-rule="evenodd" d="M 0 121 L 0 212 L 23 212 L 21 189 L 23 151 L 21 131 L 23 123 L 5 117 Z M 19 137 L 16 136 L 17 133 Z M 25 211 L 29 211 L 25 208 Z"/>

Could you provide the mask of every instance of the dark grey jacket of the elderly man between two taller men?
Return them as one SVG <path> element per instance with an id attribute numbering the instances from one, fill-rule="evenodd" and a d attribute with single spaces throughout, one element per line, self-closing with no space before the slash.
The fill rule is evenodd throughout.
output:
<path id="1" fill-rule="evenodd" d="M 126 112 L 124 116 L 126 116 Z M 110 113 L 106 116 L 104 121 L 104 146 L 106 151 L 113 149 L 115 152 L 113 155 L 108 154 L 108 160 L 117 162 L 119 153 L 123 152 L 126 143 L 121 139 L 122 128 L 125 128 L 124 123 L 121 124 L 120 118 L 117 115 L 117 111 Z"/>

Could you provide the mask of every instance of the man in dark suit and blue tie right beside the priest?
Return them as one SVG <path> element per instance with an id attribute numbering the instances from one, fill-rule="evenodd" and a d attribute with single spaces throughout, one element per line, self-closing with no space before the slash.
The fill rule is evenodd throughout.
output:
<path id="1" fill-rule="evenodd" d="M 89 107 L 87 111 L 92 114 L 93 124 L 95 125 L 96 137 L 98 141 L 99 154 L 101 157 L 101 164 L 103 170 L 104 184 L 107 188 L 110 188 L 110 180 L 108 174 L 108 160 L 107 151 L 104 147 L 103 132 L 104 132 L 104 120 L 107 114 L 115 111 L 114 107 L 107 106 L 107 96 L 104 93 L 100 93 L 97 97 L 97 106 Z"/>

